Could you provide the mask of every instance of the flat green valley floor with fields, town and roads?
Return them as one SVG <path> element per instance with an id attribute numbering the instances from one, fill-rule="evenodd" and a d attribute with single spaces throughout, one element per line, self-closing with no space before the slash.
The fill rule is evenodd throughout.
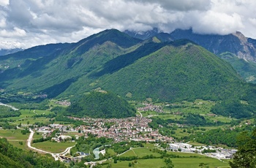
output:
<path id="1" fill-rule="evenodd" d="M 58 107 L 60 105 L 59 102 L 63 101 L 52 100 L 49 101 L 49 104 Z M 66 102 L 65 104 L 68 103 Z M 159 167 L 162 167 L 165 166 L 165 161 L 164 159 L 161 159 L 162 154 L 160 151 L 166 150 L 167 154 L 170 154 L 171 161 L 173 161 L 175 167 L 184 167 L 184 164 L 180 162 L 180 160 L 184 159 L 187 160 L 187 164 L 189 161 L 192 161 L 191 167 L 197 167 L 200 163 L 205 163 L 211 167 L 228 167 L 229 160 L 226 160 L 225 155 L 223 154 L 227 152 L 224 152 L 223 149 L 231 151 L 232 148 L 227 147 L 227 145 L 203 145 L 198 143 L 194 137 L 191 137 L 190 139 L 186 138 L 196 135 L 197 132 L 201 134 L 208 130 L 215 130 L 218 128 L 230 129 L 231 127 L 234 129 L 236 127 L 236 125 L 231 126 L 231 122 L 233 120 L 236 121 L 236 119 L 209 115 L 208 112 L 210 112 L 210 107 L 213 105 L 214 102 L 204 101 L 202 99 L 197 99 L 195 102 L 176 102 L 173 104 L 140 102 L 135 104 L 135 107 L 138 108 L 136 117 L 121 119 L 68 117 L 72 120 L 71 122 L 56 121 L 54 117 L 46 118 L 45 115 L 53 113 L 50 112 L 50 109 L 21 110 L 21 115 L 19 117 L 7 118 L 7 120 L 11 121 L 10 124 L 13 124 L 14 126 L 19 125 L 18 129 L 10 129 L 10 131 L 1 129 L 0 135 L 1 137 L 6 137 L 12 145 L 15 145 L 18 148 L 23 148 L 23 150 L 34 150 L 39 153 L 52 153 L 51 155 L 53 155 L 55 159 L 66 161 L 69 164 L 71 163 L 69 162 L 69 159 L 74 157 L 72 161 L 82 161 L 82 163 L 85 163 L 86 165 L 102 164 L 102 167 L 108 167 L 109 165 L 112 165 L 112 167 L 127 167 L 130 163 L 133 167 L 148 167 L 147 160 L 150 159 L 152 161 L 157 161 Z M 219 126 L 189 126 L 178 122 L 181 118 L 184 118 L 183 115 L 189 113 L 197 113 L 198 115 L 206 116 L 208 121 L 221 121 L 223 123 Z M 153 129 L 149 127 L 150 124 L 148 125 L 148 123 L 151 123 L 154 118 L 176 120 L 176 122 L 172 123 L 174 129 L 171 136 L 160 134 L 161 129 Z M 80 125 L 75 125 L 74 123 L 76 121 L 80 121 Z M 239 125 L 237 126 L 242 126 L 243 128 L 248 126 L 248 124 L 252 124 L 252 122 L 253 120 L 250 122 L 246 121 L 246 123 L 244 123 L 244 121 L 239 121 Z M 165 126 L 161 125 L 158 127 L 162 127 L 162 129 L 165 128 Z M 26 133 L 25 135 L 20 133 L 20 129 L 26 128 L 30 128 L 30 136 L 29 133 Z M 59 132 L 58 135 L 56 134 L 56 130 Z M 10 132 L 11 134 L 7 132 Z M 32 141 L 31 136 L 33 137 L 33 140 L 39 141 Z M 51 139 L 47 138 L 48 136 L 50 136 Z M 79 147 L 80 145 L 75 144 L 83 142 L 81 141 L 82 139 L 80 139 L 83 136 L 88 139 L 91 138 L 94 141 L 100 141 L 97 143 L 93 142 L 91 147 L 82 149 Z M 43 140 L 44 138 L 47 139 Z M 55 142 L 56 140 L 57 142 Z M 176 142 L 180 140 L 182 142 L 187 142 L 187 144 L 180 144 L 181 146 L 178 146 L 179 144 L 176 144 Z M 31 142 L 31 148 L 28 148 L 29 142 Z M 90 143 L 91 141 L 89 141 L 89 144 Z M 121 144 L 125 143 L 127 144 L 127 147 L 121 147 Z M 115 144 L 121 146 L 118 148 L 112 148 L 112 146 L 108 147 L 108 145 Z M 91 154 L 89 156 L 88 154 L 84 156 L 76 154 L 78 152 L 92 153 L 92 150 L 98 146 L 101 150 L 105 151 L 105 155 L 101 155 L 99 159 L 94 159 L 94 156 Z M 61 154 L 69 147 L 72 148 L 69 153 L 66 153 L 66 156 Z M 35 150 L 35 148 L 38 150 Z M 203 155 L 199 154 L 203 153 L 203 149 L 211 149 L 212 152 Z M 40 150 L 42 150 L 42 152 L 40 152 Z M 132 151 L 132 153 L 130 151 Z M 221 152 L 217 154 L 213 151 Z M 184 152 L 187 153 L 187 155 Z M 116 158 L 116 163 L 114 162 L 115 157 L 118 157 Z M 131 159 L 128 161 L 122 160 L 125 157 Z M 134 157 L 134 159 L 132 159 L 132 157 Z M 227 155 L 227 157 L 230 157 L 230 155 Z M 216 159 L 216 161 L 214 159 Z M 218 159 L 224 160 L 219 161 Z"/>

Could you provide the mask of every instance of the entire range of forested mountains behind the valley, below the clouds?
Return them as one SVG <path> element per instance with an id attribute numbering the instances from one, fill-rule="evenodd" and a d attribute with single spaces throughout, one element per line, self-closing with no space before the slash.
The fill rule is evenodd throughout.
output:
<path id="1" fill-rule="evenodd" d="M 187 36 L 181 36 L 186 32 Z M 255 85 L 246 83 L 236 68 L 222 59 L 251 65 L 238 56 L 244 52 L 241 38 L 231 34 L 220 42 L 221 36 L 208 35 L 207 44 L 200 46 L 203 35 L 189 34 L 191 30 L 155 32 L 138 39 L 128 31 L 110 29 L 75 43 L 36 46 L 1 56 L 1 97 L 12 95 L 8 99 L 15 97 L 15 101 L 42 95 L 78 99 L 96 89 L 138 101 L 208 99 L 241 104 L 243 100 L 248 104 L 246 112 L 252 114 Z M 211 42 L 213 45 L 208 44 Z M 248 46 L 252 55 L 253 45 Z"/>

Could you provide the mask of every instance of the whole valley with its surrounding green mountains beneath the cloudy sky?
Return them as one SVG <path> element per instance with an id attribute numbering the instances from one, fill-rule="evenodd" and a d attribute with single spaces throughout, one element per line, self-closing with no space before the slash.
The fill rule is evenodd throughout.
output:
<path id="1" fill-rule="evenodd" d="M 128 33 L 0 57 L 0 151 L 11 164 L 22 151 L 31 167 L 230 167 L 243 138 L 253 144 L 253 40 Z"/>

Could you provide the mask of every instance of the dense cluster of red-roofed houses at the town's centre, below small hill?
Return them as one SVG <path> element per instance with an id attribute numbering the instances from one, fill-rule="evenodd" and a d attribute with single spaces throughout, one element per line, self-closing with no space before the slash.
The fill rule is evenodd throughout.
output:
<path id="1" fill-rule="evenodd" d="M 70 117 L 72 118 L 72 117 Z M 135 140 L 135 141 L 164 141 L 171 142 L 173 138 L 165 137 L 159 134 L 158 130 L 153 130 L 148 126 L 151 122 L 149 118 L 72 118 L 74 120 L 83 120 L 86 124 L 80 126 L 84 134 L 94 134 L 97 137 L 112 138 L 116 142 Z"/>

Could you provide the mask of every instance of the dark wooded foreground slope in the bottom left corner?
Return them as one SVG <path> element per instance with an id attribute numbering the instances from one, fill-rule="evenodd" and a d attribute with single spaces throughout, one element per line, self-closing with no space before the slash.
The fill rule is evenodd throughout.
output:
<path id="1" fill-rule="evenodd" d="M 31 168 L 31 167 L 65 167 L 64 163 L 53 158 L 40 156 L 32 151 L 26 152 L 13 147 L 6 138 L 0 139 L 0 167 Z"/>

